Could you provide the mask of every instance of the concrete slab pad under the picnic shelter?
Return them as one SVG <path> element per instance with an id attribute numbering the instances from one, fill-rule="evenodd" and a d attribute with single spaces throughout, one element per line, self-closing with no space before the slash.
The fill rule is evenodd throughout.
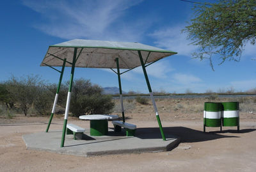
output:
<path id="1" fill-rule="evenodd" d="M 61 145 L 61 130 L 26 134 L 23 137 L 30 150 L 44 150 L 78 156 L 109 155 L 120 153 L 163 152 L 172 150 L 180 143 L 180 139 L 166 134 L 163 141 L 158 128 L 139 128 L 135 137 L 125 136 L 125 130 L 115 133 L 109 128 L 108 136 L 90 136 L 86 130 L 83 139 L 74 140 L 73 135 L 66 135 L 65 145 Z"/>

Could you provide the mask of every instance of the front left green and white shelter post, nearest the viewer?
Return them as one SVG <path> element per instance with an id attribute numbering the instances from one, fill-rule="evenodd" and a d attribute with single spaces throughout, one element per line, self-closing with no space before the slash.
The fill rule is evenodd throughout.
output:
<path id="1" fill-rule="evenodd" d="M 67 129 L 67 121 L 68 121 L 68 110 L 69 110 L 69 105 L 70 105 L 74 71 L 75 71 L 75 66 L 76 66 L 76 54 L 77 54 L 77 48 L 74 49 L 74 56 L 73 56 L 73 61 L 72 61 L 72 69 L 71 69 L 71 74 L 70 74 L 67 104 L 66 104 L 66 109 L 65 109 L 65 116 L 64 116 L 64 123 L 63 123 L 62 137 L 61 137 L 61 145 L 60 145 L 61 148 L 64 146 L 64 142 L 65 142 L 65 134 L 66 134 L 66 129 Z"/>

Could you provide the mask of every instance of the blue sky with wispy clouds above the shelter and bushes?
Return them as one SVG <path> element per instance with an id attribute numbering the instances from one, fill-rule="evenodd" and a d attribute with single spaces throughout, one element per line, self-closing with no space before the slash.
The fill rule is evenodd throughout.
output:
<path id="1" fill-rule="evenodd" d="M 204 2 L 203 0 L 197 0 Z M 209 0 L 210 1 L 210 0 Z M 204 93 L 234 88 L 247 91 L 256 88 L 256 49 L 246 45 L 241 61 L 191 59 L 196 47 L 181 33 L 193 18 L 193 4 L 184 1 L 87 0 L 87 1 L 1 1 L 0 81 L 11 75 L 40 75 L 47 82 L 58 82 L 60 74 L 40 67 L 49 45 L 74 38 L 140 42 L 178 52 L 147 68 L 152 90 Z M 63 81 L 68 81 L 70 68 L 65 68 Z M 102 87 L 118 86 L 111 70 L 76 68 L 75 78 L 90 79 Z M 124 91 L 147 93 L 141 68 L 121 76 Z"/>

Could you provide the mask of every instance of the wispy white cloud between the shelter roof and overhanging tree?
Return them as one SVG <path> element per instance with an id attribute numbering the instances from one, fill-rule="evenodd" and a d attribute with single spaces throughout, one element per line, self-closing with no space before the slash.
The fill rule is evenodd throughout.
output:
<path id="1" fill-rule="evenodd" d="M 178 52 L 179 55 L 191 56 L 191 53 L 196 51 L 196 46 L 189 45 L 189 40 L 186 39 L 186 33 L 182 33 L 183 25 L 166 27 L 159 29 L 150 34 L 156 41 L 157 46 L 164 49 Z"/>

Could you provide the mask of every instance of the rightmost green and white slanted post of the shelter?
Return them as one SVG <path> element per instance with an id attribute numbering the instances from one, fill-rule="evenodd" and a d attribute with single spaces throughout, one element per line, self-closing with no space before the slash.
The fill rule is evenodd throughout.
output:
<path id="1" fill-rule="evenodd" d="M 155 102 L 155 99 L 154 99 L 154 96 L 153 96 L 153 93 L 152 93 L 152 90 L 151 90 L 151 86 L 150 86 L 150 83 L 149 83 L 149 80 L 148 80 L 148 74 L 147 74 L 147 70 L 145 68 L 145 64 L 143 62 L 143 58 L 142 58 L 142 55 L 141 55 L 141 52 L 138 51 L 138 54 L 139 54 L 139 57 L 140 57 L 140 62 L 141 62 L 141 66 L 142 66 L 142 69 L 143 69 L 143 73 L 145 75 L 145 79 L 146 79 L 146 82 L 147 82 L 147 86 L 148 86 L 148 91 L 150 93 L 150 98 L 152 100 L 152 104 L 154 106 L 154 110 L 156 112 L 156 119 L 157 119 L 157 122 L 158 122 L 158 125 L 159 125 L 159 129 L 160 129 L 160 132 L 161 132 L 161 135 L 162 135 L 162 138 L 163 140 L 165 141 L 166 138 L 164 136 L 164 131 L 163 131 L 163 127 L 162 127 L 162 124 L 161 124 L 161 120 L 159 118 L 159 114 L 158 114 L 158 110 L 157 110 L 157 107 L 156 107 L 156 102 Z"/>

